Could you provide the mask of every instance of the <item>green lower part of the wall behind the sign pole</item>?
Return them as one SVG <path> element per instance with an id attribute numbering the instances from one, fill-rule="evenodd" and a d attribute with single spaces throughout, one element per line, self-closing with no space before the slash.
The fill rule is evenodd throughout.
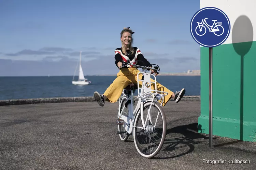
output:
<path id="1" fill-rule="evenodd" d="M 201 115 L 209 134 L 209 48 L 201 47 Z M 213 48 L 213 135 L 256 141 L 256 41 Z"/>

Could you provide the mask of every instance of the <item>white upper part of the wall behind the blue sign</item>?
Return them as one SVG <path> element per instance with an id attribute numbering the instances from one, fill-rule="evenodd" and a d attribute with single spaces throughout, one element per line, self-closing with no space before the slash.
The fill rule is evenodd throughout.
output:
<path id="1" fill-rule="evenodd" d="M 200 8 L 208 6 L 219 8 L 228 16 L 230 20 L 230 34 L 223 44 L 232 43 L 231 35 L 233 25 L 236 19 L 241 15 L 245 15 L 251 20 L 254 30 L 253 41 L 256 41 L 256 0 L 200 0 Z M 241 27 L 241 31 L 242 30 L 244 30 L 243 34 L 246 34 L 246 27 L 244 29 Z M 250 33 L 250 35 L 252 35 L 252 33 Z M 248 38 L 248 35 L 243 35 L 242 37 L 238 38 L 235 43 L 242 43 L 248 41 L 248 39 L 251 39 Z"/>

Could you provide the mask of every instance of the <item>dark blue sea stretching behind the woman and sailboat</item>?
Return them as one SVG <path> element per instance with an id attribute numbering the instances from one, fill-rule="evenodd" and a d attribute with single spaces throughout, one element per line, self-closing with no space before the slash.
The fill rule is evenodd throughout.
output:
<path id="1" fill-rule="evenodd" d="M 94 91 L 101 94 L 115 80 L 116 75 L 85 75 L 92 83 L 73 85 L 71 75 L 43 76 L 1 76 L 0 100 L 53 98 L 53 97 L 89 97 Z M 185 96 L 200 96 L 200 75 L 158 75 L 157 82 L 173 92 L 186 89 Z M 76 81 L 77 76 L 74 77 Z M 138 95 L 136 90 L 134 95 Z"/>

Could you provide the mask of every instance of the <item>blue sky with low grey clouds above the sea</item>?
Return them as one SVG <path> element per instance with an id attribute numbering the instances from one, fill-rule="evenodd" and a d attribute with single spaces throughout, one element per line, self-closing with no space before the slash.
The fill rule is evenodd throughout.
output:
<path id="1" fill-rule="evenodd" d="M 1 0 L 0 76 L 116 74 L 120 32 L 160 72 L 200 70 L 190 20 L 200 0 Z M 78 71 L 76 71 L 78 75 Z"/>

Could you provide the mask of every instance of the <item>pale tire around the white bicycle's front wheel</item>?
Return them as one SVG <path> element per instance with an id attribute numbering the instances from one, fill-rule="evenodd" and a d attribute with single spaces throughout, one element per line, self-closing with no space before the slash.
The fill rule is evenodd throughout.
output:
<path id="1" fill-rule="evenodd" d="M 144 108 L 147 108 L 151 105 L 151 101 L 148 101 L 148 102 L 145 102 L 143 104 L 143 107 Z M 139 152 L 139 154 L 145 158 L 152 158 L 154 157 L 156 154 L 158 154 L 158 152 L 161 150 L 162 146 L 163 146 L 163 142 L 165 141 L 165 137 L 166 137 L 166 116 L 165 116 L 165 113 L 163 112 L 163 109 L 162 107 L 160 106 L 160 104 L 158 102 L 153 102 L 152 103 L 152 107 L 156 107 L 157 110 L 160 112 L 160 115 L 162 117 L 162 123 L 163 123 L 163 129 L 162 129 L 162 138 L 160 140 L 160 143 L 157 147 L 157 149 L 151 153 L 151 154 L 146 154 L 146 153 L 143 153 L 141 149 L 139 149 L 139 143 L 138 143 L 138 138 L 137 138 L 137 135 L 136 135 L 136 131 L 137 131 L 137 128 L 133 128 L 133 139 L 134 139 L 134 144 L 135 144 L 135 147 L 137 149 L 137 151 Z M 144 110 L 144 109 L 143 109 Z M 136 113 L 136 116 L 135 116 L 135 119 L 134 119 L 134 126 L 137 126 L 138 125 L 138 121 L 139 121 L 139 118 L 140 118 L 141 114 L 140 114 L 140 108 L 138 109 L 137 113 Z"/>

